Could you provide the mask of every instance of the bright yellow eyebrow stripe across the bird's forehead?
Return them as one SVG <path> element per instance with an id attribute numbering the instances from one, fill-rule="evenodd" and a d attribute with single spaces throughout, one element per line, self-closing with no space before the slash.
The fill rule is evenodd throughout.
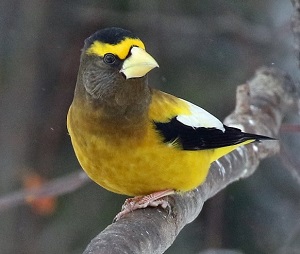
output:
<path id="1" fill-rule="evenodd" d="M 138 46 L 145 49 L 145 45 L 140 39 L 125 38 L 117 44 L 94 41 L 93 44 L 86 50 L 86 54 L 103 57 L 105 54 L 111 53 L 123 60 L 128 55 L 132 46 Z"/>

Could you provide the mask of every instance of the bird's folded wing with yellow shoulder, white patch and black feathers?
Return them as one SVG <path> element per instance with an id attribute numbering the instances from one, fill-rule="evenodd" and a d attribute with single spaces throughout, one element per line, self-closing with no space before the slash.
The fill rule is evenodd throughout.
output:
<path id="1" fill-rule="evenodd" d="M 156 90 L 149 117 L 165 143 L 179 145 L 183 150 L 215 149 L 266 139 L 227 127 L 204 109 Z"/>

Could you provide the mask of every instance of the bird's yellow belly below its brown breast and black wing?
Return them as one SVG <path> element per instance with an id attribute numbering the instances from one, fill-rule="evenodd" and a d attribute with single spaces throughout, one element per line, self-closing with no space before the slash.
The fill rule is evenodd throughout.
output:
<path id="1" fill-rule="evenodd" d="M 153 137 L 157 135 L 154 130 L 135 139 L 68 127 L 82 168 L 112 192 L 137 196 L 165 189 L 188 191 L 201 184 L 209 170 L 213 150 L 168 146 Z"/>

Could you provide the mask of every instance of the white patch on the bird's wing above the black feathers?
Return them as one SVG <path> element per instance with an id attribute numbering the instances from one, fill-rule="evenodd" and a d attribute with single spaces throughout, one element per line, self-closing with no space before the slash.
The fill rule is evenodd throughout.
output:
<path id="1" fill-rule="evenodd" d="M 183 100 L 183 99 L 180 99 Z M 203 108 L 200 108 L 193 103 L 183 100 L 190 107 L 191 114 L 178 115 L 176 119 L 184 125 L 191 126 L 193 128 L 205 127 L 205 128 L 217 128 L 221 131 L 225 131 L 223 123 L 208 113 Z"/>

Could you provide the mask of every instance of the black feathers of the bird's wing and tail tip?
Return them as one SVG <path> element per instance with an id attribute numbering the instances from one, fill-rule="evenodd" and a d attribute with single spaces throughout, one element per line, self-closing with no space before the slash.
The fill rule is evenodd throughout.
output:
<path id="1" fill-rule="evenodd" d="M 273 138 L 245 133 L 240 129 L 224 125 L 225 131 L 217 128 L 193 128 L 172 118 L 170 122 L 154 122 L 156 129 L 164 137 L 164 142 L 176 142 L 183 150 L 204 150 L 231 146 L 247 140 L 264 140 Z"/>

